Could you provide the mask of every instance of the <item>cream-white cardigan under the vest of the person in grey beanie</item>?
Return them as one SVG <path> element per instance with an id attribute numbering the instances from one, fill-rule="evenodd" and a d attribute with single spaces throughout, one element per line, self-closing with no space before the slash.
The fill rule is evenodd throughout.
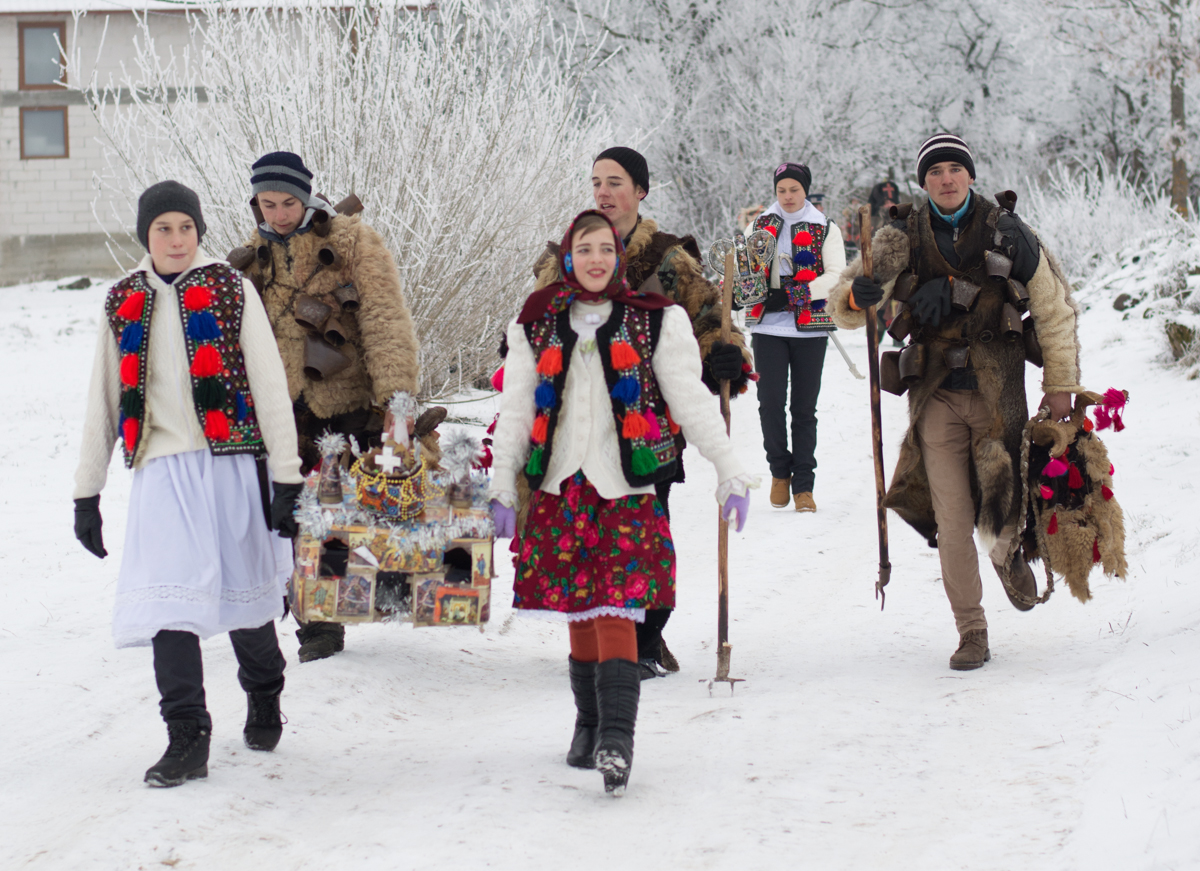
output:
<path id="1" fill-rule="evenodd" d="M 146 418 L 143 421 L 144 434 L 134 457 L 134 468 L 140 469 L 156 457 L 206 450 L 209 446 L 192 400 L 192 379 L 188 374 L 176 288 L 186 287 L 188 272 L 224 260 L 214 259 L 197 248 L 192 265 L 174 284 L 167 284 L 157 276 L 149 254 L 134 270 L 134 274 L 145 272 L 150 286 L 157 292 L 148 336 L 150 358 L 146 360 Z M 251 396 L 254 397 L 258 427 L 266 444 L 271 477 L 280 483 L 300 483 L 304 479 L 300 476 L 295 419 L 280 349 L 263 301 L 254 286 L 245 278 L 242 294 L 246 304 L 239 343 L 246 360 L 246 376 L 250 379 Z M 108 318 L 102 314 L 88 392 L 83 447 L 76 469 L 76 499 L 96 495 L 108 480 L 108 463 L 120 434 L 120 367 L 121 353 Z"/>

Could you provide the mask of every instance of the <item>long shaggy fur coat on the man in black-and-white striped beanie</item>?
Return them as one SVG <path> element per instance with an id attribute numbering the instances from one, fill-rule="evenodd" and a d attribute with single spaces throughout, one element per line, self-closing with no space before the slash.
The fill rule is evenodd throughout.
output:
<path id="1" fill-rule="evenodd" d="M 937 276 L 954 276 L 983 288 L 974 307 L 943 320 L 938 335 L 950 336 L 952 341 L 967 341 L 979 392 L 994 418 L 990 432 L 971 446 L 976 525 L 985 542 L 994 542 L 1006 525 L 1020 519 L 1025 494 L 1020 452 L 1028 412 L 1021 342 L 1010 343 L 1000 338 L 983 342 L 977 338 L 984 330 L 996 330 L 1004 304 L 1003 284 L 988 278 L 983 262 L 984 253 L 991 247 L 1000 212 L 982 198 L 977 199 L 971 223 L 962 230 L 964 242 L 956 246 L 965 254 L 960 269 L 952 268 L 938 253 L 928 204 L 913 209 L 907 220 L 876 232 L 871 252 L 874 276 L 883 286 L 884 301 L 890 298 L 896 278 L 905 271 L 917 274 L 918 287 Z M 845 269 L 829 294 L 834 323 L 842 329 L 853 330 L 866 323 L 865 312 L 850 307 L 851 282 L 862 274 L 862 257 L 858 257 Z M 1070 296 L 1070 286 L 1044 245 L 1040 246 L 1038 266 L 1027 289 L 1030 312 L 1045 361 L 1043 390 L 1046 394 L 1078 394 L 1084 390 L 1079 384 L 1078 308 Z M 924 377 L 908 389 L 908 431 L 900 445 L 884 505 L 920 533 L 931 547 L 936 547 L 937 522 L 916 427 L 926 402 L 949 374 L 949 368 L 938 341 L 926 343 L 926 352 Z M 1014 536 L 1014 551 L 1020 539 L 1020 535 Z"/>

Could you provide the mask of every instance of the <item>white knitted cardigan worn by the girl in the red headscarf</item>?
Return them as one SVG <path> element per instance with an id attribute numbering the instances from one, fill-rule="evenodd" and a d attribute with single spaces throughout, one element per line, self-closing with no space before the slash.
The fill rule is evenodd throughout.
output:
<path id="1" fill-rule="evenodd" d="M 571 352 L 554 445 L 541 482 L 541 489 L 547 493 L 557 494 L 562 482 L 581 469 L 604 499 L 654 492 L 653 485 L 635 487 L 625 480 L 604 366 L 594 342 L 588 341 L 595 337 L 598 324 L 586 323 L 586 316 L 600 316 L 599 323 L 604 323 L 611 313 L 612 302 L 571 304 L 571 329 L 580 334 L 580 341 Z M 516 475 L 529 456 L 529 433 L 538 413 L 534 403 L 538 372 L 523 325 L 514 320 L 509 324 L 508 335 L 509 355 L 504 361 L 500 419 L 492 444 L 494 468 L 490 495 L 512 506 L 516 501 Z M 592 349 L 586 350 L 586 346 Z M 683 428 L 684 438 L 716 467 L 718 481 L 725 485 L 719 492 L 727 494 L 731 489 L 728 482 L 733 479 L 742 477 L 749 483 L 750 479 L 745 476 L 725 434 L 719 402 L 700 380 L 700 346 L 696 344 L 688 312 L 680 306 L 668 306 L 662 311 L 662 330 L 650 366 L 662 397 L 671 407 L 671 416 Z M 733 489 L 744 492 L 745 486 Z"/>

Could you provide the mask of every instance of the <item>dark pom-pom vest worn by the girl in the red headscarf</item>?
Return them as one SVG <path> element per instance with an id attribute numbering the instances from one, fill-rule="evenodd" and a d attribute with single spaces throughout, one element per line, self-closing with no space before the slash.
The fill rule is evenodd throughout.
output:
<path id="1" fill-rule="evenodd" d="M 616 302 L 607 323 L 596 330 L 596 353 L 604 366 L 617 425 L 620 467 L 634 487 L 670 480 L 678 468 L 676 434 L 679 426 L 671 419 L 650 368 L 661 329 L 661 311 L 649 312 Z M 526 324 L 524 330 L 538 360 L 534 394 L 538 414 L 529 434 L 530 452 L 526 463 L 529 486 L 536 489 L 550 468 L 566 371 L 578 337 L 571 329 L 570 310 Z"/>

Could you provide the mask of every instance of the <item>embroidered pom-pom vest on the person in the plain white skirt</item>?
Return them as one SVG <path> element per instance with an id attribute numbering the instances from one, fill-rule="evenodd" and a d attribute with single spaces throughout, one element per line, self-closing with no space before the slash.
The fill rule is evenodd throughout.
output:
<path id="1" fill-rule="evenodd" d="M 181 286 L 179 314 L 192 376 L 192 401 L 214 453 L 266 452 L 250 395 L 250 379 L 238 337 L 245 306 L 241 274 L 224 264 L 204 266 Z M 155 289 L 145 272 L 119 281 L 104 312 L 121 352 L 121 440 L 125 464 L 133 467 L 146 416 L 146 360 Z"/>

